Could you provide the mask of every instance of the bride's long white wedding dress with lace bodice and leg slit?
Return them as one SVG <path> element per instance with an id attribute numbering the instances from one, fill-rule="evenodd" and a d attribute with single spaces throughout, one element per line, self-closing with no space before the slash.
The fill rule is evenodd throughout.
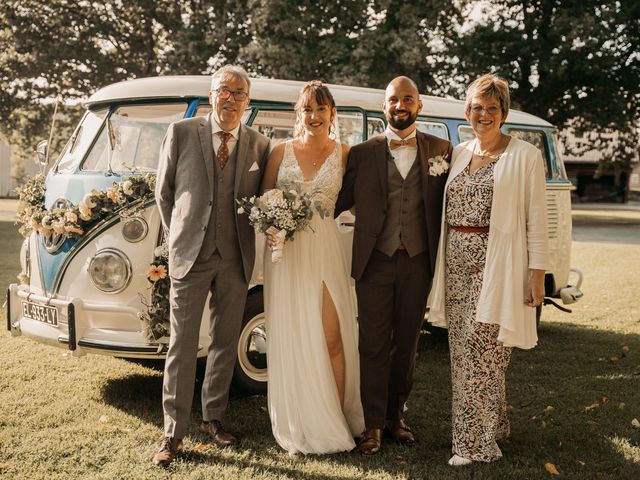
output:
<path id="1" fill-rule="evenodd" d="M 336 143 L 316 175 L 305 180 L 287 142 L 276 181 L 276 186 L 295 183 L 313 192 L 329 212 L 324 219 L 315 214 L 312 229 L 285 242 L 280 263 L 273 264 L 270 254 L 264 261 L 269 415 L 276 441 L 290 454 L 349 451 L 364 429 L 355 298 L 333 219 L 342 184 L 341 154 Z M 323 285 L 340 319 L 346 366 L 343 406 L 322 327 Z"/>

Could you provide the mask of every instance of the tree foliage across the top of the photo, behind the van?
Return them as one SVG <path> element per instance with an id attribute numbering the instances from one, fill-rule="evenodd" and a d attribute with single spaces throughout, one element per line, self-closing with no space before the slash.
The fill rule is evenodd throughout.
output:
<path id="1" fill-rule="evenodd" d="M 610 0 L 5 0 L 0 134 L 27 151 L 48 136 L 52 99 L 119 80 L 210 73 L 386 85 L 398 74 L 461 97 L 486 71 L 514 105 L 609 148 L 628 167 L 638 141 L 640 4 Z M 59 139 L 68 135 L 59 135 Z M 612 139 L 616 138 L 616 142 Z M 613 145 L 617 145 L 613 148 Z M 626 150 L 625 150 L 626 149 Z"/>

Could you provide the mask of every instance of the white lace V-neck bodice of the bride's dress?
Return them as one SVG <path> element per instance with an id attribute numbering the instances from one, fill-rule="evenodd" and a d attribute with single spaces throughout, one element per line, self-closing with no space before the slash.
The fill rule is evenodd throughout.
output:
<path id="1" fill-rule="evenodd" d="M 305 180 L 293 150 L 293 143 L 288 141 L 285 143 L 276 186 L 280 188 L 283 185 L 296 185 L 300 191 L 311 193 L 313 199 L 319 201 L 322 208 L 332 215 L 342 186 L 342 175 L 342 149 L 339 143 L 336 142 L 334 149 L 313 178 Z"/>

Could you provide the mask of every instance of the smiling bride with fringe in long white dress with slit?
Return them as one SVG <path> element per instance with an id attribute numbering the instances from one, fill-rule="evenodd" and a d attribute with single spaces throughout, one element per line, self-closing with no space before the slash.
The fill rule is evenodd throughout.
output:
<path id="1" fill-rule="evenodd" d="M 348 259 L 333 219 L 349 150 L 330 138 L 335 102 L 321 82 L 296 103 L 295 138 L 274 148 L 263 191 L 295 183 L 329 214 L 265 255 L 268 403 L 273 435 L 290 454 L 350 451 L 364 429 L 358 331 Z"/>

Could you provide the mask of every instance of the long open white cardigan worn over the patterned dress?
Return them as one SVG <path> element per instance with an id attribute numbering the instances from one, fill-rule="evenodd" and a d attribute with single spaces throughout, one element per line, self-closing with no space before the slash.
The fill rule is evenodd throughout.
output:
<path id="1" fill-rule="evenodd" d="M 467 167 L 475 145 L 476 140 L 470 140 L 454 149 L 447 187 Z M 446 191 L 445 188 L 445 209 Z M 444 308 L 447 227 L 443 214 L 428 301 L 429 322 L 440 327 L 447 327 Z M 530 143 L 512 137 L 494 170 L 489 240 L 476 313 L 476 321 L 500 325 L 498 340 L 507 347 L 528 349 L 538 343 L 535 308 L 525 304 L 525 296 L 530 270 L 547 270 L 548 258 L 542 155 Z"/>

